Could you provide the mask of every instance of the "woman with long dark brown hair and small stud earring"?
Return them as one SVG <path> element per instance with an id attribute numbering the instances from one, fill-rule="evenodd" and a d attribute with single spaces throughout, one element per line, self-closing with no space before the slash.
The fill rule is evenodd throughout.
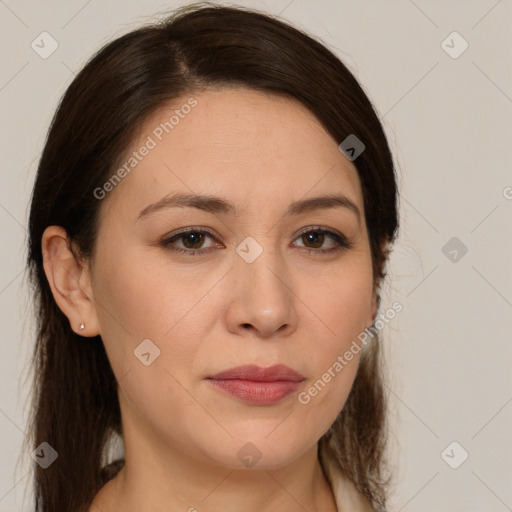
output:
<path id="1" fill-rule="evenodd" d="M 363 90 L 288 24 L 198 4 L 106 45 L 32 197 L 36 509 L 385 510 L 396 196 Z"/>

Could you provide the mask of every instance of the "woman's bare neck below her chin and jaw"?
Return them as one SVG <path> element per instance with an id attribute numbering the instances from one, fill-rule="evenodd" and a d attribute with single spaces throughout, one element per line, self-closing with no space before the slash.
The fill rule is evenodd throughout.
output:
<path id="1" fill-rule="evenodd" d="M 337 511 L 317 445 L 272 470 L 232 470 L 168 449 L 162 457 L 148 446 L 130 448 L 125 441 L 125 466 L 102 488 L 91 512 Z"/>

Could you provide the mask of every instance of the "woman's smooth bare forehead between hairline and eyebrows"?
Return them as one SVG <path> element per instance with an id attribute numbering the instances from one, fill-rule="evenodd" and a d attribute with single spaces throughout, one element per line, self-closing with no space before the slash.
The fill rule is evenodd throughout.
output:
<path id="1" fill-rule="evenodd" d="M 161 107 L 123 164 L 128 172 L 108 203 L 130 217 L 173 192 L 223 196 L 242 215 L 334 192 L 362 210 L 356 168 L 315 115 L 293 98 L 245 87 L 207 89 Z"/>

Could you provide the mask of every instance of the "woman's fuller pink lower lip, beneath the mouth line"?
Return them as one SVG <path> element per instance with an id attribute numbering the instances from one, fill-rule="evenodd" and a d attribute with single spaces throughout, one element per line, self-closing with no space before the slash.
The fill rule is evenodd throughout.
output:
<path id="1" fill-rule="evenodd" d="M 301 386 L 301 382 L 277 380 L 256 382 L 241 379 L 209 379 L 209 381 L 230 395 L 255 405 L 270 405 L 291 395 Z"/>

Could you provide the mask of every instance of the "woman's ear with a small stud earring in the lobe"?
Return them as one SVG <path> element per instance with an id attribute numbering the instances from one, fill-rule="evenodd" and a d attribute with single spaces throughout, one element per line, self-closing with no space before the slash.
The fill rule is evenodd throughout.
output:
<path id="1" fill-rule="evenodd" d="M 55 302 L 80 336 L 99 334 L 89 265 L 73 254 L 66 230 L 48 226 L 41 240 L 43 267 Z M 80 330 L 80 324 L 85 328 Z"/>

